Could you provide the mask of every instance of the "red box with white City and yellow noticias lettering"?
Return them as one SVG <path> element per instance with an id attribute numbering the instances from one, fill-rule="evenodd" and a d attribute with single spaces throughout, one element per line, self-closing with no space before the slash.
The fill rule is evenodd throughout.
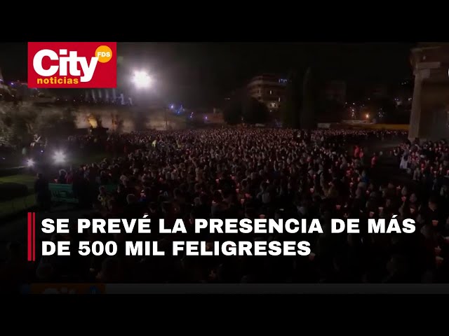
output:
<path id="1" fill-rule="evenodd" d="M 116 87 L 116 50 L 116 42 L 28 42 L 28 87 Z"/>

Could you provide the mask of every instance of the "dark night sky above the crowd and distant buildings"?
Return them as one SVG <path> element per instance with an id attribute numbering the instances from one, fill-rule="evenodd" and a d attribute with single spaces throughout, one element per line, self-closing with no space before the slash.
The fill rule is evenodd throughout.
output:
<path id="1" fill-rule="evenodd" d="M 352 86 L 412 78 L 415 43 L 119 43 L 132 73 L 147 69 L 152 94 L 185 106 L 211 106 L 260 73 L 288 74 L 314 64 L 328 79 Z M 27 80 L 26 43 L 0 43 L 5 80 Z"/>

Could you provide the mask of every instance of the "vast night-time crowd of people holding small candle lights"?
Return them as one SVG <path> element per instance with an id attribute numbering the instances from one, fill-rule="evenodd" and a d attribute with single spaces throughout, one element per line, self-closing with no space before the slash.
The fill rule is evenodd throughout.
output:
<path id="1" fill-rule="evenodd" d="M 402 140 L 398 148 L 382 144 Z M 201 235 L 203 241 L 306 240 L 311 255 L 43 257 L 36 281 L 149 283 L 403 283 L 449 281 L 449 146 L 419 144 L 404 132 L 366 130 L 221 129 L 148 131 L 76 137 L 74 146 L 104 148 L 101 162 L 51 176 L 73 186 L 91 218 L 176 218 L 187 223 L 182 240 L 199 240 L 197 218 L 319 218 L 323 234 Z M 372 146 L 376 149 L 373 149 Z M 381 148 L 380 150 L 377 148 Z M 375 174 L 382 155 L 396 158 L 407 183 Z M 401 174 L 398 172 L 398 174 Z M 401 176 L 403 178 L 404 176 Z M 48 203 L 46 177 L 36 181 Z M 47 205 L 46 205 L 47 204 Z M 413 218 L 413 234 L 368 234 L 368 218 Z M 331 218 L 360 218 L 360 234 L 330 235 Z M 144 235 L 145 236 L 145 235 Z M 55 235 L 54 240 L 157 240 L 176 235 Z M 16 248 L 17 249 L 17 248 Z M 15 251 L 14 245 L 11 251 Z M 169 250 L 168 250 L 169 251 Z M 13 253 L 12 253 L 13 254 Z M 168 253 L 170 254 L 170 253 Z"/>

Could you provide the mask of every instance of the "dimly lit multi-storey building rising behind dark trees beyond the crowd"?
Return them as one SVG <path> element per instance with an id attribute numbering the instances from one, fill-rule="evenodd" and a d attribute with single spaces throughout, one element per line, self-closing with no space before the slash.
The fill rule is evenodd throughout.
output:
<path id="1" fill-rule="evenodd" d="M 281 76 L 262 74 L 250 80 L 246 89 L 250 97 L 267 105 L 270 112 L 279 111 L 286 95 L 287 80 Z"/>

